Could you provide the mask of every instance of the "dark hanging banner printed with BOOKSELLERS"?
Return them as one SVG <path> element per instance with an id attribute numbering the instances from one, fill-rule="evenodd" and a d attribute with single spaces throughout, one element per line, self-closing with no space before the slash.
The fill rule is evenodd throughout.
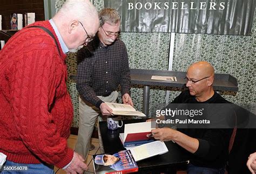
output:
<path id="1" fill-rule="evenodd" d="M 255 0 L 107 0 L 123 32 L 250 35 Z"/>

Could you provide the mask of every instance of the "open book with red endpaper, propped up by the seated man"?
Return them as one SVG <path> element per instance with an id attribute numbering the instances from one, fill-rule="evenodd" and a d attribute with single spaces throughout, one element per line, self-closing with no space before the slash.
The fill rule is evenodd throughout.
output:
<path id="1" fill-rule="evenodd" d="M 137 122 L 124 125 L 124 133 L 119 134 L 119 138 L 127 149 L 154 141 L 149 135 L 151 130 L 156 128 L 156 121 Z M 129 148 L 130 149 L 130 148 Z"/>

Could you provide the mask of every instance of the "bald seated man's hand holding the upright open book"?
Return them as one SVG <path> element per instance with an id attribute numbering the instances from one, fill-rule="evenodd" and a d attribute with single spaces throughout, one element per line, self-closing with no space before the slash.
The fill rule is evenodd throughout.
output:
<path id="1" fill-rule="evenodd" d="M 152 129 L 151 133 L 153 134 L 152 137 L 156 140 L 160 141 L 171 141 L 174 139 L 174 136 L 176 136 L 177 131 L 171 128 L 157 128 Z"/>

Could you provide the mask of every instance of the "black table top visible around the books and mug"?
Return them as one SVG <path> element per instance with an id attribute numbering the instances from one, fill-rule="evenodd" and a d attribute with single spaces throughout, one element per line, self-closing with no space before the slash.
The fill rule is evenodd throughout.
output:
<path id="1" fill-rule="evenodd" d="M 123 120 L 124 124 L 129 124 L 133 122 L 142 122 L 145 119 L 135 119 L 135 120 Z M 120 150 L 125 150 L 122 142 L 119 139 L 119 133 L 124 132 L 124 126 L 118 128 L 117 130 L 109 130 L 107 128 L 106 121 L 100 121 L 100 132 L 102 134 L 103 146 L 105 153 L 115 153 Z M 164 168 L 166 166 L 176 166 L 179 164 L 187 163 L 190 158 L 190 154 L 178 146 L 178 144 L 173 143 L 172 141 L 165 142 L 169 152 L 163 155 L 154 156 L 151 158 L 143 159 L 142 161 L 137 162 L 139 170 L 144 170 L 146 168 Z"/>

